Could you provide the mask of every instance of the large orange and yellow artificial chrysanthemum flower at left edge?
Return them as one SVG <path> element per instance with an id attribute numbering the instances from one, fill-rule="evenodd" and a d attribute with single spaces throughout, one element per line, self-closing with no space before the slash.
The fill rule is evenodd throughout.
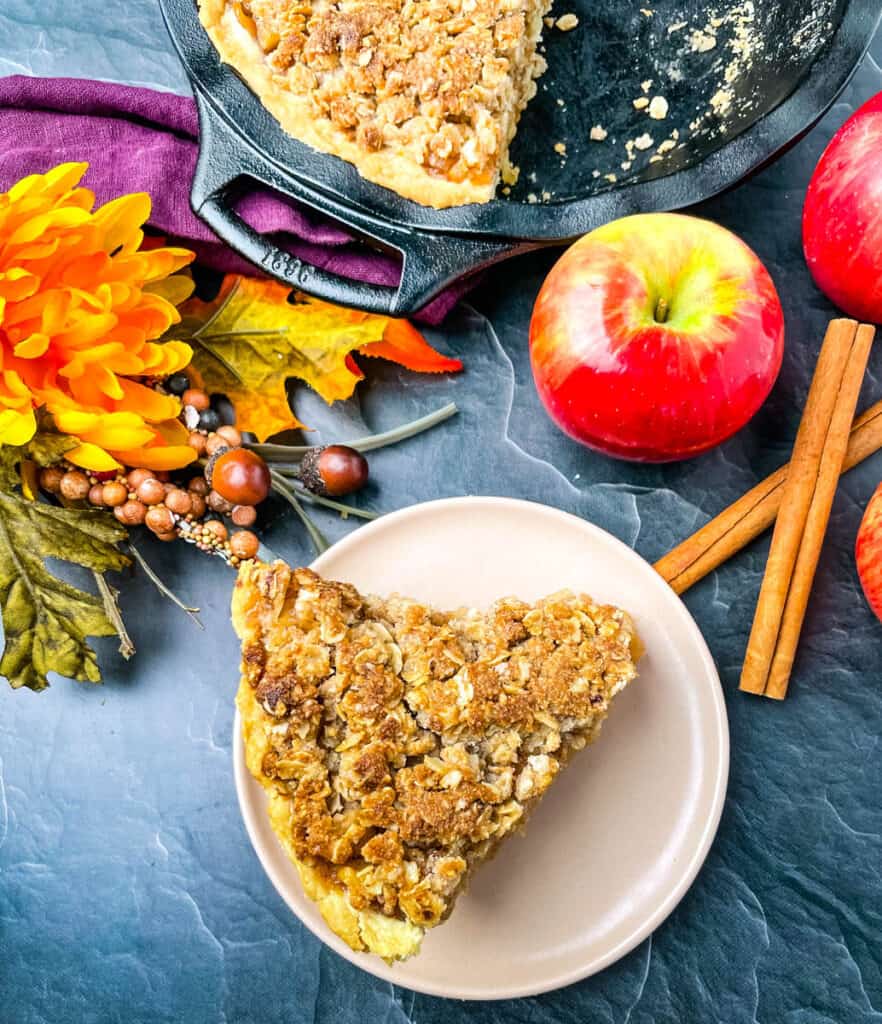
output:
<path id="1" fill-rule="evenodd" d="M 141 249 L 143 193 L 97 210 L 78 187 L 86 164 L 61 164 L 0 194 L 0 444 L 24 444 L 45 409 L 79 444 L 66 458 L 96 471 L 176 469 L 195 458 L 180 403 L 134 378 L 164 377 L 192 356 L 157 342 L 192 291 L 185 249 Z"/>

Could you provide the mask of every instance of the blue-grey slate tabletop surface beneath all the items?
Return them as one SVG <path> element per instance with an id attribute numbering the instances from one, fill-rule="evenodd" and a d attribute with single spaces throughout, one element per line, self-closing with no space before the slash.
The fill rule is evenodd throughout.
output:
<path id="1" fill-rule="evenodd" d="M 152 0 L 4 0 L 0 73 L 91 75 L 183 90 Z M 832 310 L 802 262 L 810 169 L 848 112 L 882 88 L 882 39 L 824 125 L 774 167 L 701 211 L 769 266 L 788 316 L 784 371 L 751 426 L 696 462 L 640 469 L 588 454 L 542 413 L 527 360 L 531 303 L 552 256 L 496 272 L 434 335 L 458 379 L 373 373 L 361 404 L 306 416 L 332 439 L 455 398 L 446 428 L 377 455 L 376 509 L 460 494 L 549 502 L 662 554 L 781 464 Z M 882 396 L 873 356 L 865 400 Z M 308 401 L 307 398 L 303 398 Z M 345 414 L 345 415 L 344 415 Z M 335 426 L 332 428 L 332 424 Z M 650 940 L 603 974 L 549 995 L 463 1005 L 378 982 L 292 916 L 245 836 L 230 767 L 237 649 L 228 571 L 144 541 L 203 609 L 200 633 L 142 579 L 124 611 L 139 647 L 102 643 L 108 682 L 2 694 L 0 1021 L 481 1024 L 523 1021 L 858 1024 L 882 1021 L 882 627 L 851 549 L 882 456 L 840 488 L 792 695 L 737 692 L 767 541 L 686 597 L 717 659 L 732 765 L 719 836 L 692 890 Z M 277 510 L 281 511 L 281 510 Z M 346 528 L 322 518 L 332 536 Z M 309 550 L 291 516 L 266 535 Z"/>

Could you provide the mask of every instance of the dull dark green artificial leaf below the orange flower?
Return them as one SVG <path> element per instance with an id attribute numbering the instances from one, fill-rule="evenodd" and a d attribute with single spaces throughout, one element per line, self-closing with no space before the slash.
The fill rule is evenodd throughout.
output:
<path id="1" fill-rule="evenodd" d="M 95 572 L 128 559 L 115 547 L 126 530 L 94 509 L 57 508 L 17 494 L 16 466 L 35 453 L 0 449 L 0 604 L 5 645 L 0 675 L 13 687 L 42 690 L 47 673 L 100 681 L 90 636 L 114 636 L 103 602 L 52 575 L 44 559 L 57 558 Z"/>

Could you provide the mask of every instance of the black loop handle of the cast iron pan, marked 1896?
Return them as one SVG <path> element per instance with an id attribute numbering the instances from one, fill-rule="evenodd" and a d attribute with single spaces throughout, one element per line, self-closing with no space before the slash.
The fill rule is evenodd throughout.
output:
<path id="1" fill-rule="evenodd" d="M 505 239 L 425 236 L 345 206 L 293 174 L 282 173 L 233 133 L 199 89 L 195 92 L 201 144 L 191 191 L 193 208 L 237 252 L 292 288 L 337 305 L 387 316 L 409 316 L 458 279 L 536 248 L 529 242 Z M 320 214 L 332 216 L 378 248 L 397 250 L 402 255 L 397 287 L 341 276 L 274 245 L 234 209 L 237 179 L 242 177 L 259 181 Z"/>

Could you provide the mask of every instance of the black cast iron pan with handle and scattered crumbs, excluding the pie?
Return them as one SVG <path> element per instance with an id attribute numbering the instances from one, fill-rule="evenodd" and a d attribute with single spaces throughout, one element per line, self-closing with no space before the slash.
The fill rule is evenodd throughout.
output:
<path id="1" fill-rule="evenodd" d="M 219 61 L 196 0 L 160 3 L 199 104 L 196 212 L 281 281 L 392 315 L 416 311 L 451 282 L 515 253 L 627 213 L 689 206 L 734 184 L 829 109 L 882 15 L 879 0 L 557 0 L 555 13 L 573 11 L 580 25 L 546 32 L 549 70 L 512 148 L 517 185 L 485 205 L 432 210 L 286 135 Z M 668 102 L 663 120 L 634 104 L 656 95 Z M 607 133 L 602 142 L 589 138 L 595 125 Z M 647 137 L 652 145 L 641 148 Z M 235 210 L 255 181 L 369 245 L 396 250 L 397 288 L 337 276 L 258 234 Z"/>

